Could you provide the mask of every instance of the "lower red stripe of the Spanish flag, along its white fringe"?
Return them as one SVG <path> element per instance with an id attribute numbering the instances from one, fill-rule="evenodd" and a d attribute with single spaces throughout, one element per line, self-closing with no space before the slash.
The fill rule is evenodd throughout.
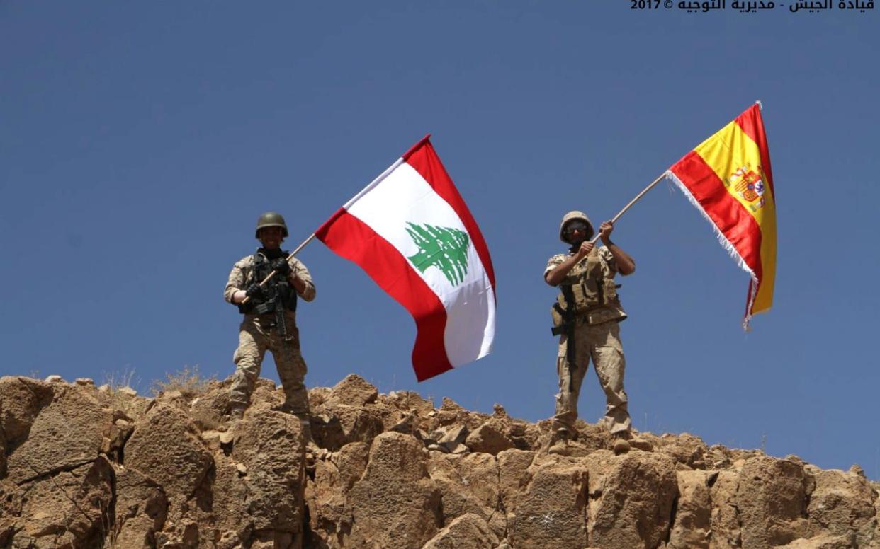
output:
<path id="1" fill-rule="evenodd" d="M 760 280 L 761 229 L 752 214 L 730 195 L 715 170 L 696 151 L 687 153 L 670 170 Z"/>

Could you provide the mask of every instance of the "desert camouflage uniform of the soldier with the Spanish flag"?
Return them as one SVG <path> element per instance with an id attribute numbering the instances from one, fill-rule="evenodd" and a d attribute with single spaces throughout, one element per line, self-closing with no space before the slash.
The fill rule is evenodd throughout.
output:
<path id="1" fill-rule="evenodd" d="M 574 253 L 559 254 L 547 262 L 544 276 L 553 271 L 557 265 L 573 256 Z M 598 260 L 598 267 L 606 280 L 612 280 L 617 274 L 617 264 L 611 250 L 605 246 L 594 248 L 590 256 L 576 264 L 561 282 L 577 284 L 589 277 L 588 260 Z M 615 297 L 601 307 L 579 314 L 575 320 L 573 338 L 575 343 L 574 362 L 569 364 L 568 336 L 562 333 L 559 339 L 559 352 L 556 358 L 556 371 L 559 374 L 559 394 L 556 395 L 556 413 L 554 429 L 575 431 L 577 419 L 577 398 L 581 393 L 583 376 L 587 372 L 592 358 L 599 385 L 605 391 L 605 424 L 612 433 L 628 432 L 631 421 L 627 411 L 627 393 L 623 389 L 623 375 L 626 359 L 620 344 L 619 322 L 626 319 L 627 314 L 620 307 Z"/>

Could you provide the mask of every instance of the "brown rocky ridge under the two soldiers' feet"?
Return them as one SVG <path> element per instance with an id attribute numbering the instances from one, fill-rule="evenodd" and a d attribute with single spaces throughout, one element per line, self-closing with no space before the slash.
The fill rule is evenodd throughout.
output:
<path id="1" fill-rule="evenodd" d="M 310 391 L 312 443 L 260 379 L 243 420 L 228 382 L 139 397 L 0 378 L 0 548 L 844 549 L 880 547 L 880 485 L 858 466 L 641 438 L 615 456 L 549 424 L 350 375 Z"/>

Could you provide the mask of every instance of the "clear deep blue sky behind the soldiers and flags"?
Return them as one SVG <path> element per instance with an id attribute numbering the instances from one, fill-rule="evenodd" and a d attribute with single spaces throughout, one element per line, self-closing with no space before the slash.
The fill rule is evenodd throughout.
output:
<path id="1" fill-rule="evenodd" d="M 658 185 L 614 232 L 634 425 L 880 479 L 880 16 L 631 4 L 0 2 L 0 373 L 230 375 L 222 290 L 257 216 L 292 248 L 430 133 L 495 264 L 495 352 L 416 383 L 406 310 L 312 242 L 306 382 L 546 418 L 561 214 L 612 217 L 760 99 L 774 309 L 739 328 L 748 276 Z M 588 373 L 581 415 L 603 408 Z"/>

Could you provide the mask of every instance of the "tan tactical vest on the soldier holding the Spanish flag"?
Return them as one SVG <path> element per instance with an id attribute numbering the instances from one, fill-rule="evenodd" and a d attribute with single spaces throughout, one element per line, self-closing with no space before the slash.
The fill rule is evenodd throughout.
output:
<path id="1" fill-rule="evenodd" d="M 590 254 L 576 264 L 560 283 L 560 293 L 550 308 L 554 335 L 573 326 L 578 318 L 588 324 L 604 321 L 622 321 L 627 314 L 620 307 L 617 289 L 610 267 L 593 248 Z"/>

